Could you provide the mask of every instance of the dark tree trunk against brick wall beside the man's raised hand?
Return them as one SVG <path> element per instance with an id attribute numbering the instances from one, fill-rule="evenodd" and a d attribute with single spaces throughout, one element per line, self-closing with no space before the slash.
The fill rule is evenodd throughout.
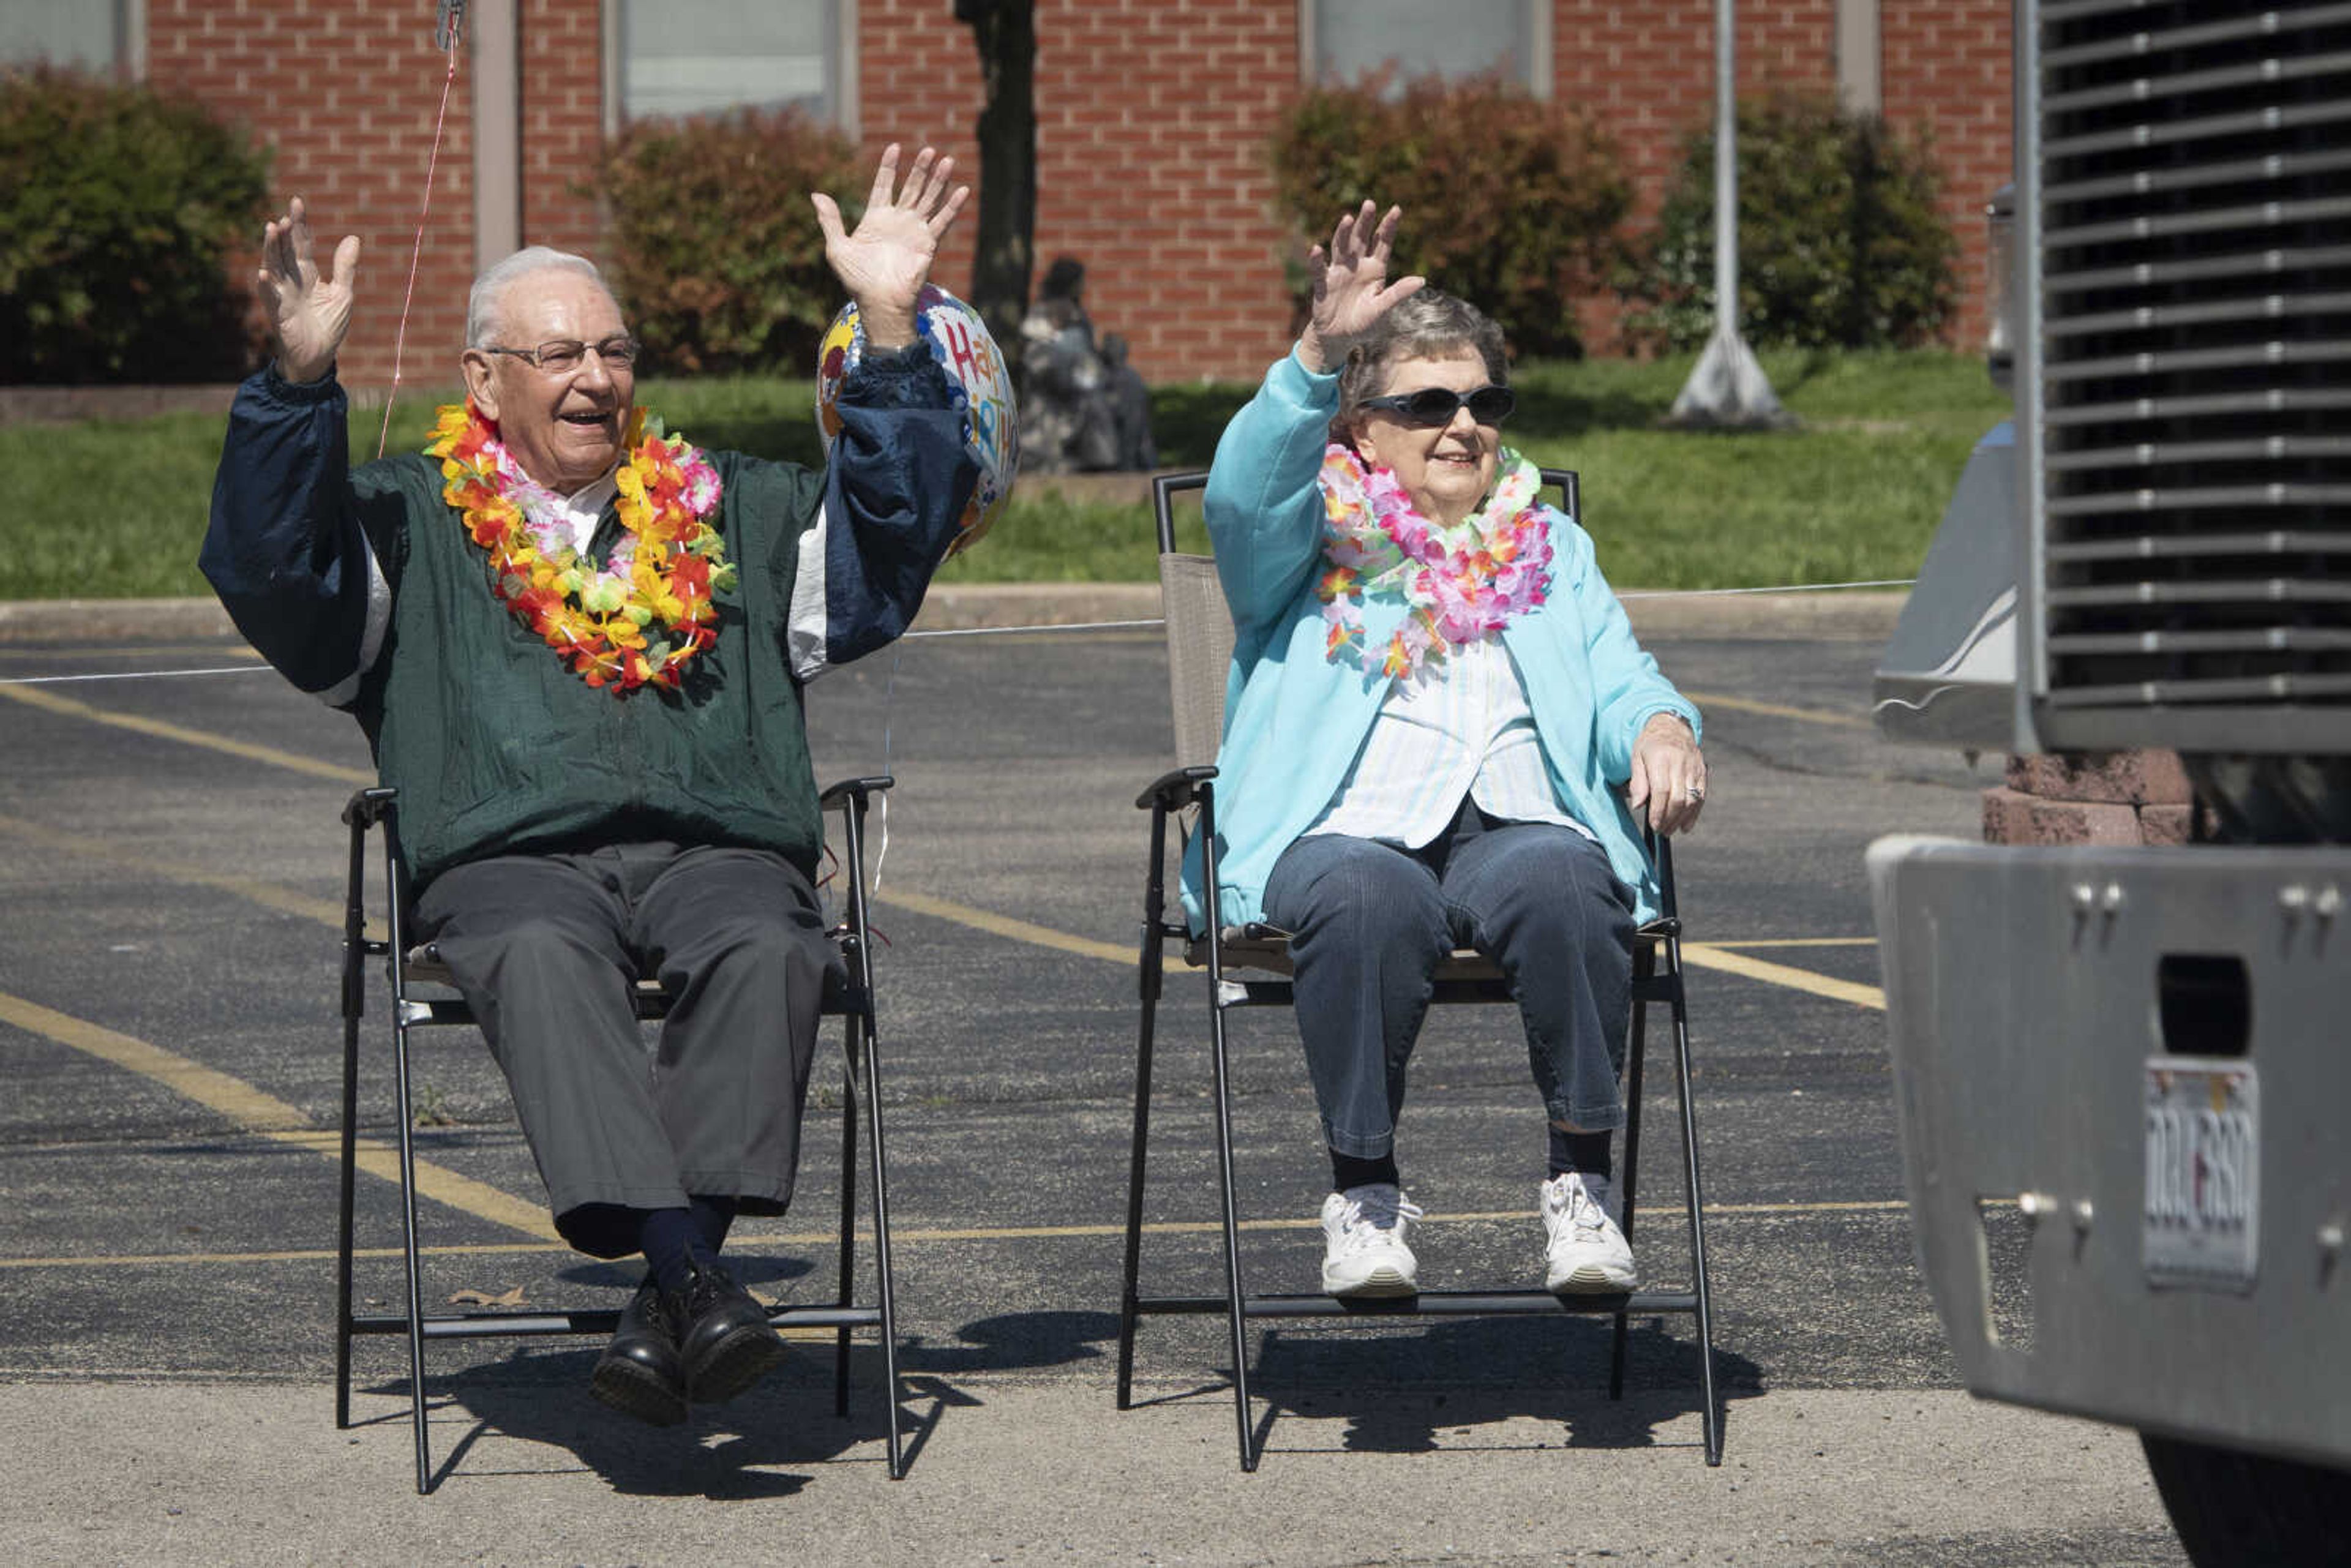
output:
<path id="1" fill-rule="evenodd" d="M 980 49 L 980 212 L 971 306 L 1018 355 L 1037 228 L 1037 0 L 955 0 Z"/>

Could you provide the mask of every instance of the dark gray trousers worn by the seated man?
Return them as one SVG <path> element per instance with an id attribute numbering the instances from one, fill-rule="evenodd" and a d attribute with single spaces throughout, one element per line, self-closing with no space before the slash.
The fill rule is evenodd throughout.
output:
<path id="1" fill-rule="evenodd" d="M 689 1197 L 783 1213 L 837 964 L 792 863 L 677 844 L 496 856 L 433 879 L 416 922 L 505 1072 L 564 1241 L 635 1253 L 644 1211 Z M 670 994 L 651 1048 L 639 973 Z"/>

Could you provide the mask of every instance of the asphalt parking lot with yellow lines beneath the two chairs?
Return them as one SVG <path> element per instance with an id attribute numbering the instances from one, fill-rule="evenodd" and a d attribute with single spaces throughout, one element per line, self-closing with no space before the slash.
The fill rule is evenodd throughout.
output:
<path id="1" fill-rule="evenodd" d="M 1994 766 L 1876 741 L 1886 604 L 1634 609 L 1707 710 L 1714 771 L 1679 872 L 1721 1469 L 1697 1453 L 1688 1319 L 1636 1324 L 1622 1403 L 1599 1321 L 1260 1328 L 1255 1476 L 1232 1462 L 1220 1324 L 1147 1324 L 1143 1408 L 1112 1408 L 1133 799 L 1168 762 L 1159 637 L 1126 628 L 910 639 L 811 691 L 818 778 L 900 780 L 875 919 L 910 1476 L 879 1481 L 872 1352 L 846 1422 L 811 1354 L 677 1439 L 611 1427 L 581 1389 L 588 1342 L 442 1345 L 428 1500 L 393 1345 L 362 1347 L 357 1429 L 334 1432 L 324 1392 L 357 729 L 202 616 L 0 621 L 0 1458 L 19 1493 L 0 1542 L 24 1561 L 2184 1561 L 2130 1434 L 1954 1389 L 1911 1265 L 1862 849 L 1972 837 Z M 1208 1291 L 1201 1018 L 1204 985 L 1171 983 L 1147 1267 Z M 1319 1255 L 1286 1027 L 1237 1020 L 1244 1265 L 1265 1291 L 1312 1288 Z M 1399 1154 L 1429 1215 L 1425 1284 L 1540 1269 L 1542 1117 L 1512 1034 L 1451 1009 L 1422 1039 Z M 480 1044 L 433 1037 L 416 1077 L 428 1300 L 618 1305 L 632 1269 L 545 1239 Z M 390 1135 L 381 1074 L 362 1121 Z M 1686 1272 L 1672 1121 L 1660 1072 L 1636 1234 L 1657 1276 Z M 795 1213 L 729 1248 L 776 1298 L 830 1291 L 837 1159 L 811 1147 Z M 390 1300 L 393 1187 L 362 1178 L 360 1208 L 360 1293 Z"/>

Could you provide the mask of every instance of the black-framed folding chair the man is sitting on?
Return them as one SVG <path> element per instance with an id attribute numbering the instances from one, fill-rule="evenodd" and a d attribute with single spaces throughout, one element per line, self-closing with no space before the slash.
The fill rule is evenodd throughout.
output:
<path id="1" fill-rule="evenodd" d="M 835 1300 L 809 1307 L 773 1307 L 776 1328 L 832 1328 L 835 1373 L 832 1408 L 849 1415 L 851 1333 L 875 1328 L 882 1338 L 882 1368 L 889 1389 L 889 1476 L 905 1474 L 898 1443 L 898 1316 L 889 1265 L 889 1180 L 882 1150 L 882 1067 L 875 1048 L 875 976 L 872 940 L 865 926 L 865 806 L 891 788 L 891 778 L 851 778 L 823 795 L 823 809 L 842 811 L 842 870 L 846 896 L 842 922 L 832 929 L 842 964 L 828 978 L 823 1013 L 839 1018 L 842 1051 L 842 1239 Z M 609 1335 L 621 1312 L 538 1309 L 538 1312 L 426 1312 L 423 1269 L 416 1241 L 416 1154 L 414 1107 L 409 1098 L 409 1030 L 421 1025 L 473 1023 L 473 1009 L 461 997 L 416 997 L 411 987 L 449 987 L 449 971 L 430 947 L 409 950 L 404 924 L 404 872 L 400 865 L 397 790 L 360 790 L 343 809 L 350 825 L 350 882 L 343 905 L 343 1194 L 336 1241 L 336 1335 L 334 1335 L 334 1425 L 350 1427 L 350 1342 L 357 1335 L 407 1335 L 409 1340 L 409 1418 L 416 1427 L 416 1490 L 433 1490 L 433 1453 L 426 1425 L 426 1340 L 536 1338 L 536 1335 Z M 367 832 L 383 830 L 386 936 L 367 936 Z M 397 957 L 395 957 L 397 954 Z M 400 1239 L 407 1260 L 407 1312 L 362 1314 L 350 1309 L 353 1187 L 357 1178 L 360 1110 L 360 1018 L 367 1009 L 367 959 L 383 959 L 393 1013 L 393 1107 L 400 1124 Z M 454 987 L 449 987 L 454 992 Z M 632 994 L 639 1020 L 658 1020 L 670 1011 L 670 997 L 656 980 L 639 980 Z M 863 1081 L 860 1081 L 863 1079 Z M 858 1095 L 865 1095 L 865 1154 L 872 1164 L 875 1295 L 870 1305 L 853 1300 L 856 1286 L 856 1201 L 858 1201 Z"/>

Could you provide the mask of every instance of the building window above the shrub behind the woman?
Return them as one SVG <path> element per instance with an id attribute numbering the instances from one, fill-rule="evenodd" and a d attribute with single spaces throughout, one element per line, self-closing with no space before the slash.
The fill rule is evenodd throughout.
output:
<path id="1" fill-rule="evenodd" d="M 1552 89 L 1552 7 L 1535 0 L 1300 0 L 1307 68 L 1317 82 L 1354 82 L 1392 68 L 1394 85 L 1500 75 Z"/>

